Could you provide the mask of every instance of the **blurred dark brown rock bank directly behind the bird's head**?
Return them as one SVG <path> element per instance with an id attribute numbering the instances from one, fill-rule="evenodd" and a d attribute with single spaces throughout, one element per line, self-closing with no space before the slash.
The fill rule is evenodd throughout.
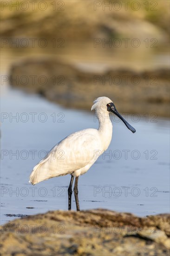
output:
<path id="1" fill-rule="evenodd" d="M 87 71 L 57 58 L 42 57 L 14 63 L 9 71 L 10 84 L 38 93 L 66 108 L 90 110 L 98 96 L 114 100 L 123 113 L 169 117 L 169 70 L 136 71 L 112 68 Z M 154 118 L 154 116 L 153 116 Z"/>

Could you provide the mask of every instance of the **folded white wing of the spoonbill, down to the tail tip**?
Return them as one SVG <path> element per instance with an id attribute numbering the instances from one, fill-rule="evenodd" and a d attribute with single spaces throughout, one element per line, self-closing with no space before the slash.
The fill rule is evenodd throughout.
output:
<path id="1" fill-rule="evenodd" d="M 36 184 L 84 168 L 95 162 L 95 150 L 100 148 L 100 140 L 95 129 L 86 129 L 69 135 L 33 168 L 30 182 Z"/>

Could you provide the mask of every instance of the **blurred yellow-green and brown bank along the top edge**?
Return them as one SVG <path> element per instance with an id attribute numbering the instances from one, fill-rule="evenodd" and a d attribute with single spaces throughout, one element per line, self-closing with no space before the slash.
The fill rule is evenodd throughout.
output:
<path id="1" fill-rule="evenodd" d="M 96 8 L 92 0 L 56 0 L 53 1 L 55 8 L 52 1 L 46 0 L 44 11 L 39 8 L 40 0 L 34 7 L 29 1 L 26 10 L 22 0 L 9 1 L 7 7 L 3 2 L 0 2 L 1 36 L 59 35 L 67 40 L 92 40 L 94 37 L 155 35 L 169 41 L 170 2 L 167 0 L 101 0 L 96 1 L 99 4 Z M 61 10 L 60 3 L 63 4 Z"/>

